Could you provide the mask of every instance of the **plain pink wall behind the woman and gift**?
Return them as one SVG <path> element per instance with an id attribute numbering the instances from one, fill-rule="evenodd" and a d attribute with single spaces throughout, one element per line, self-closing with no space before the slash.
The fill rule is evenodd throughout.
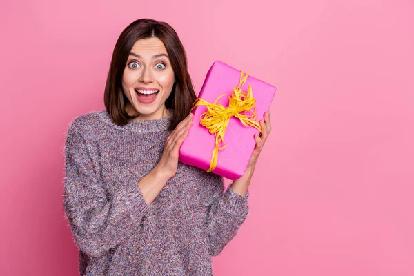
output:
<path id="1" fill-rule="evenodd" d="M 177 30 L 197 91 L 215 59 L 277 86 L 215 275 L 414 275 L 413 1 L 108 2 L 0 3 L 0 275 L 77 275 L 64 133 L 141 17 Z"/>

